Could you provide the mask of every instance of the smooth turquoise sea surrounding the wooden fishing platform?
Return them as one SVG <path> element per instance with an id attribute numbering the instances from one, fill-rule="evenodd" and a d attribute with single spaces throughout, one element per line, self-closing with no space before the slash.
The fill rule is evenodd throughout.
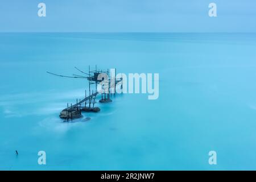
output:
<path id="1" fill-rule="evenodd" d="M 256 34 L 1 33 L 0 169 L 256 169 L 255 50 Z M 63 123 L 88 82 L 46 71 L 95 64 L 159 73 L 158 100 L 115 95 Z"/>

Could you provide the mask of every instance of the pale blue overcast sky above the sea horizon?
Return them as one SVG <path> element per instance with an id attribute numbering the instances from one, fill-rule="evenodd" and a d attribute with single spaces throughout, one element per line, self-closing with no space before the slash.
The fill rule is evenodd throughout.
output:
<path id="1" fill-rule="evenodd" d="M 38 16 L 38 3 L 47 16 Z M 217 17 L 208 16 L 210 2 Z M 1 0 L 1 32 L 256 32 L 255 0 Z"/>

